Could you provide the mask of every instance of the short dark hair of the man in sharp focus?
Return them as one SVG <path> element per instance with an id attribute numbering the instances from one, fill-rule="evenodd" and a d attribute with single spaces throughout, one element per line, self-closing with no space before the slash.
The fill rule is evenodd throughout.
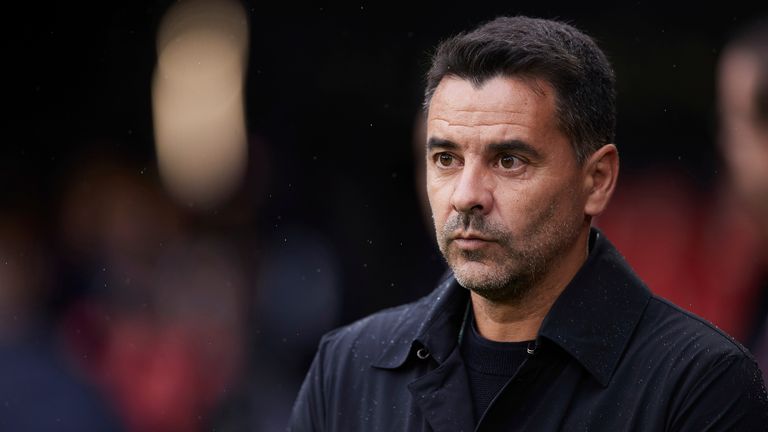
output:
<path id="1" fill-rule="evenodd" d="M 583 163 L 616 131 L 613 69 L 597 44 L 554 20 L 499 17 L 438 45 L 427 73 L 424 107 L 446 76 L 481 86 L 496 76 L 543 79 L 555 90 L 559 126 Z"/>

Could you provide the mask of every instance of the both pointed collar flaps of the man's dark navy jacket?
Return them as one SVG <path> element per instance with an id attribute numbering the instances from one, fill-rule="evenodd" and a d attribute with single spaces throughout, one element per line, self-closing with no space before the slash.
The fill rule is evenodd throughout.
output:
<path id="1" fill-rule="evenodd" d="M 560 346 L 606 386 L 650 297 L 616 248 L 593 228 L 589 256 L 544 318 L 538 339 Z M 403 311 L 393 326 L 393 343 L 374 366 L 398 368 L 420 346 L 442 363 L 456 346 L 468 302 L 469 291 L 449 272 L 437 289 Z"/>

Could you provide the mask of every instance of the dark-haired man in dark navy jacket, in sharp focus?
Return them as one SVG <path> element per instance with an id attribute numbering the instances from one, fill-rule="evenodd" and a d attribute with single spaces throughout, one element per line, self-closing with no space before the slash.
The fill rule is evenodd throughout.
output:
<path id="1" fill-rule="evenodd" d="M 326 335 L 291 430 L 768 427 L 750 354 L 654 297 L 590 228 L 618 154 L 613 72 L 589 37 L 498 18 L 439 46 L 425 105 L 452 272 Z"/>

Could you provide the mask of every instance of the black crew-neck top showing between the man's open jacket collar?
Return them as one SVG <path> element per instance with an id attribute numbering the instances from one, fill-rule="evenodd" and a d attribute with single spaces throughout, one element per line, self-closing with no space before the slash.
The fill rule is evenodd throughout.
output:
<path id="1" fill-rule="evenodd" d="M 479 421 L 493 398 L 528 357 L 533 341 L 495 342 L 477 331 L 470 312 L 461 341 L 461 356 L 467 369 L 475 421 Z"/>

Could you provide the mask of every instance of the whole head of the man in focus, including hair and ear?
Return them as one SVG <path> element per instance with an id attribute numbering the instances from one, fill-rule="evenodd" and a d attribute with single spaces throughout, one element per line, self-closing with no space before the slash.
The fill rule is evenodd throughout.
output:
<path id="1" fill-rule="evenodd" d="M 618 171 L 614 99 L 603 53 L 563 23 L 498 18 L 438 47 L 427 193 L 463 286 L 515 301 L 581 265 Z"/>

